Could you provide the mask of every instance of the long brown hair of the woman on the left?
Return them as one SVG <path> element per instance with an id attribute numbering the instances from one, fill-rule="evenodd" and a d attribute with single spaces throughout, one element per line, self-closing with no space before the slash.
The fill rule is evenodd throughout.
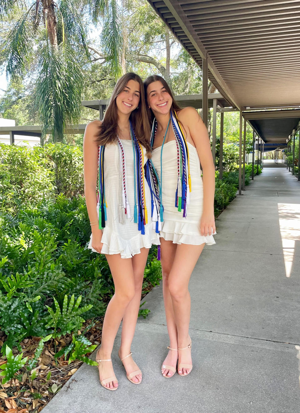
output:
<path id="1" fill-rule="evenodd" d="M 99 145 L 117 142 L 118 135 L 118 108 L 116 104 L 117 96 L 124 90 L 130 80 L 137 81 L 140 84 L 140 101 L 138 107 L 131 112 L 129 119 L 132 122 L 134 132 L 138 141 L 146 148 L 147 156 L 151 156 L 150 150 L 150 123 L 145 104 L 145 95 L 143 81 L 136 73 L 129 72 L 124 74 L 117 81 L 110 102 L 105 111 L 102 125 L 99 127 L 96 142 Z"/>

